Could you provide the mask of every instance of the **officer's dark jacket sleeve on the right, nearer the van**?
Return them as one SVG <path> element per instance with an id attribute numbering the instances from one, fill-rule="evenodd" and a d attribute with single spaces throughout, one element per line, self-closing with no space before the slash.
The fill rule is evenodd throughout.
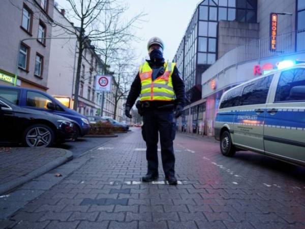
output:
<path id="1" fill-rule="evenodd" d="M 180 74 L 176 66 L 174 67 L 174 71 L 172 74 L 172 82 L 176 94 L 175 104 L 184 106 L 186 98 L 185 84 L 182 80 L 182 75 Z"/>

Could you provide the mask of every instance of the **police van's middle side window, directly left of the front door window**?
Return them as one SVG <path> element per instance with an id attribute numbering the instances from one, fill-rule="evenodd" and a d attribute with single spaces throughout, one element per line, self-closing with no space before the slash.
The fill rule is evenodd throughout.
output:
<path id="1" fill-rule="evenodd" d="M 240 105 L 264 104 L 267 100 L 273 75 L 247 83 L 242 91 Z"/>

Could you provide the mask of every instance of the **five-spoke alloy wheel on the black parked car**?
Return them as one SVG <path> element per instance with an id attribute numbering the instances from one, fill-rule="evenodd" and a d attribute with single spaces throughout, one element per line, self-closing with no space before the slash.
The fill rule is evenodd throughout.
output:
<path id="1" fill-rule="evenodd" d="M 25 142 L 29 147 L 47 147 L 51 141 L 52 133 L 43 126 L 35 126 L 29 129 L 25 135 Z"/>

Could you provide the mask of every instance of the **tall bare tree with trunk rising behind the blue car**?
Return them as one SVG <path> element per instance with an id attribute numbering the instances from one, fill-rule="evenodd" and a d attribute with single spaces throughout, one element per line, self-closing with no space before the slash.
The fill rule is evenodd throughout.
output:
<path id="1" fill-rule="evenodd" d="M 132 28 L 144 14 L 141 12 L 131 19 L 123 20 L 122 15 L 126 12 L 127 6 L 122 5 L 119 0 L 66 0 L 66 2 L 70 7 L 67 9 L 67 17 L 70 21 L 77 22 L 75 23 L 77 30 L 73 24 L 65 26 L 54 21 L 53 25 L 63 27 L 67 33 L 76 36 L 78 41 L 73 105 L 73 109 L 77 110 L 84 48 L 90 42 L 98 46 L 100 42 L 117 43 L 130 39 L 133 36 Z M 104 70 L 107 70 L 107 60 L 105 60 Z"/>

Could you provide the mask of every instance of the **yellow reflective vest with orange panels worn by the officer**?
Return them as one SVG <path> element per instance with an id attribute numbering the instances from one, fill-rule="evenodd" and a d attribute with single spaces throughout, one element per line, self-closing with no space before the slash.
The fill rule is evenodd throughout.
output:
<path id="1" fill-rule="evenodd" d="M 175 92 L 172 84 L 172 74 L 175 63 L 164 63 L 165 72 L 154 81 L 151 78 L 153 69 L 145 62 L 139 68 L 141 79 L 140 101 L 173 101 Z"/>

